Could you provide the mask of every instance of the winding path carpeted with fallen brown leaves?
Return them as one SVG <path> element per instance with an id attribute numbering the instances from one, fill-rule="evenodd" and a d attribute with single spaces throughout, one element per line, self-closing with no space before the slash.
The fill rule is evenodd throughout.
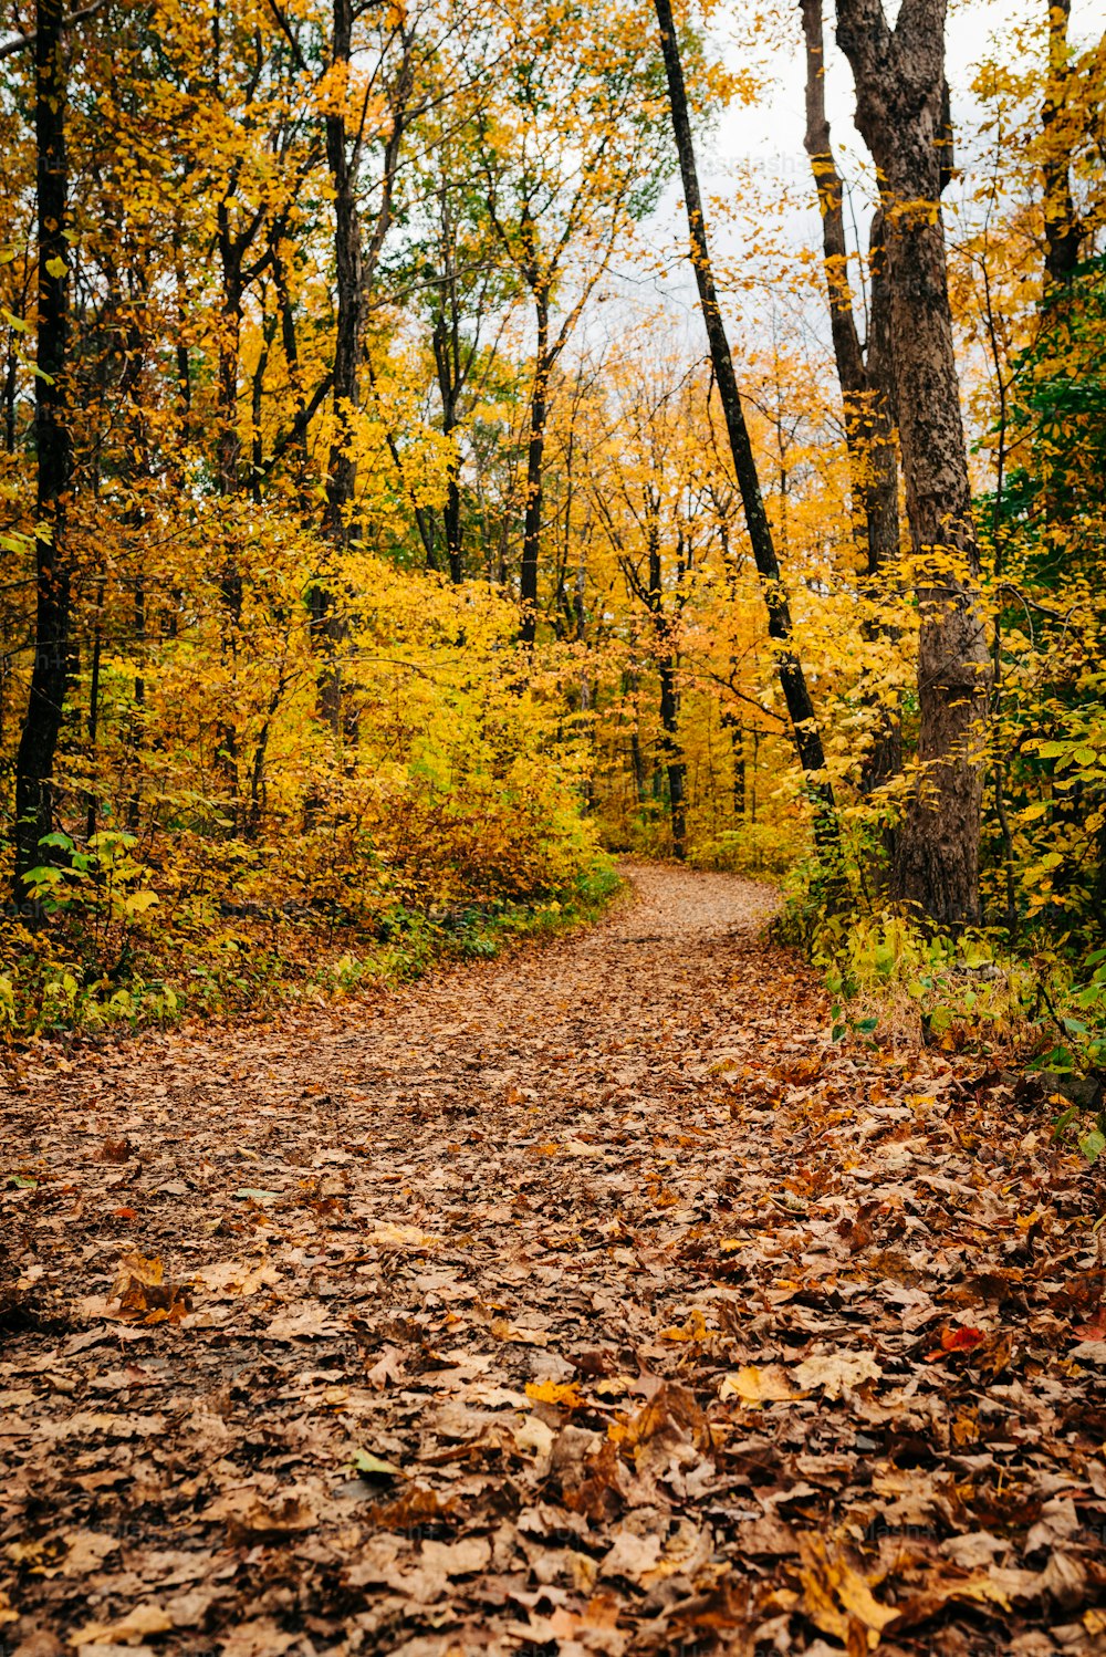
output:
<path id="1" fill-rule="evenodd" d="M 0 1649 L 1106 1652 L 1101 1176 L 767 888 L 26 1059 Z M 1103 1609 L 1096 1609 L 1103 1607 Z"/>

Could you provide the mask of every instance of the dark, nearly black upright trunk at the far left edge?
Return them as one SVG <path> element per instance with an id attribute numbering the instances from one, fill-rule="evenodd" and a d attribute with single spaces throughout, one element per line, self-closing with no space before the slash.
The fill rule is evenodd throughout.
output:
<path id="1" fill-rule="evenodd" d="M 38 217 L 38 343 L 35 451 L 38 461 L 35 540 L 35 663 L 15 759 L 15 896 L 53 828 L 53 764 L 70 668 L 70 563 L 66 502 L 73 472 L 68 426 L 70 244 L 65 147 L 65 0 L 38 0 L 35 35 L 35 143 Z"/>

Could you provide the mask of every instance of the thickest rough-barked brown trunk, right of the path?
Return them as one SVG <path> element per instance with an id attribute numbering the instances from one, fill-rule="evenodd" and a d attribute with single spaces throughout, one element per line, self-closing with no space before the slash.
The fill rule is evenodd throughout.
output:
<path id="1" fill-rule="evenodd" d="M 979 838 L 990 658 L 979 593 L 940 191 L 949 128 L 945 0 L 838 0 L 856 123 L 879 172 L 891 335 L 919 603 L 919 777 L 896 893 L 940 926 L 979 920 Z"/>

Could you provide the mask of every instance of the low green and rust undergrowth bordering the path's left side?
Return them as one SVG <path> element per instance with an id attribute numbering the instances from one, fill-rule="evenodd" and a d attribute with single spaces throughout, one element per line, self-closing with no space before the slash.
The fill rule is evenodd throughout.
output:
<path id="1" fill-rule="evenodd" d="M 123 840 L 124 843 L 119 843 Z M 180 905 L 154 928 L 126 837 L 93 848 L 96 882 L 45 920 L 7 928 L 0 1039 L 136 1031 L 187 1017 L 240 1016 L 328 1001 L 421 978 L 445 961 L 487 959 L 525 940 L 596 920 L 621 888 L 609 858 L 527 896 L 454 905 L 384 900 L 368 915 L 339 905 Z M 78 868 L 78 877 L 88 870 Z M 40 893 L 48 906 L 51 880 Z M 79 891 L 79 883 L 76 886 Z M 137 901 L 136 901 L 137 900 Z"/>

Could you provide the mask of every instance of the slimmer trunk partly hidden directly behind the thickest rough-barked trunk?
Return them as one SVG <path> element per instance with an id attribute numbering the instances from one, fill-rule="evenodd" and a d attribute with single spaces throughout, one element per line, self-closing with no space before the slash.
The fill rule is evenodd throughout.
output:
<path id="1" fill-rule="evenodd" d="M 844 239 L 844 184 L 833 157 L 825 93 L 825 41 L 821 0 L 801 0 L 806 41 L 806 134 L 818 205 L 830 300 L 830 331 L 844 406 L 844 442 L 849 459 L 853 537 L 858 575 L 868 578 L 868 597 L 878 600 L 881 578 L 899 555 L 899 472 L 894 449 L 894 393 L 889 338 L 887 268 L 882 245 L 882 212 L 873 215 L 869 240 L 871 315 L 866 346 L 853 310 Z M 869 638 L 879 628 L 869 628 Z M 871 794 L 894 777 L 902 761 L 897 713 L 878 704 L 876 729 L 861 762 L 861 792 Z"/>

